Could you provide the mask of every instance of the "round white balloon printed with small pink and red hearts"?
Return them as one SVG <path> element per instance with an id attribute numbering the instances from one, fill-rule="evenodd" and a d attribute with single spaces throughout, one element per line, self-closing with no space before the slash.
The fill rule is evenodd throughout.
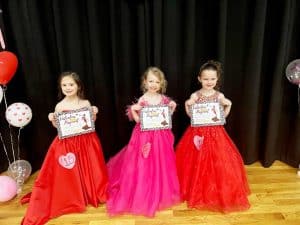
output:
<path id="1" fill-rule="evenodd" d="M 16 102 L 6 109 L 5 117 L 12 126 L 24 127 L 31 121 L 32 111 L 28 105 Z"/>

